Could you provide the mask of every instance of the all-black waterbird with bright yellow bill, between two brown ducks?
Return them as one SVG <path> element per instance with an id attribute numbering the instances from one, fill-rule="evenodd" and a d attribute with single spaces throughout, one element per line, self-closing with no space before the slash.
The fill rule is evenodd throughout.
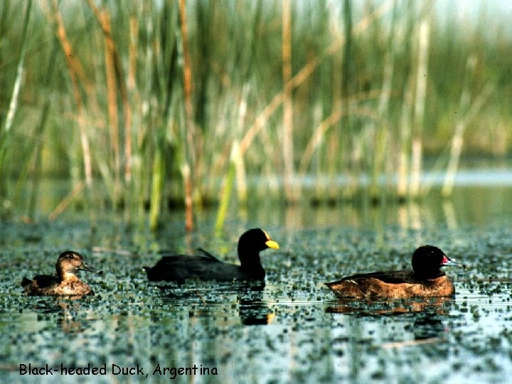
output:
<path id="1" fill-rule="evenodd" d="M 186 279 L 200 280 L 262 280 L 265 270 L 260 261 L 260 251 L 279 249 L 279 245 L 259 228 L 247 230 L 238 240 L 240 265 L 221 262 L 203 251 L 204 255 L 164 256 L 154 267 L 144 267 L 149 280 L 184 282 Z"/>

